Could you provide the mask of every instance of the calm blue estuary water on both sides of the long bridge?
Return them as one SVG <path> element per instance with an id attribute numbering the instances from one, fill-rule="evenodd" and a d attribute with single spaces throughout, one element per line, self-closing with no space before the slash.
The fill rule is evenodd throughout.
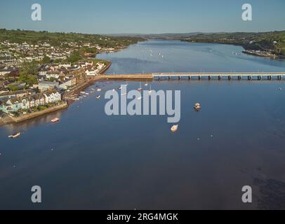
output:
<path id="1" fill-rule="evenodd" d="M 100 57 L 112 59 L 108 73 L 285 70 L 281 61 L 233 53 L 241 50 L 147 41 Z M 103 96 L 124 83 L 92 87 L 102 87 Z M 181 90 L 175 134 L 165 116 L 108 117 L 107 101 L 95 94 L 65 111 L 1 127 L 0 209 L 285 209 L 284 81 L 150 84 Z M 54 117 L 60 123 L 51 124 Z M 7 138 L 19 130 L 19 139 Z M 43 190 L 40 205 L 30 202 L 36 185 Z M 253 204 L 241 202 L 246 185 Z"/>

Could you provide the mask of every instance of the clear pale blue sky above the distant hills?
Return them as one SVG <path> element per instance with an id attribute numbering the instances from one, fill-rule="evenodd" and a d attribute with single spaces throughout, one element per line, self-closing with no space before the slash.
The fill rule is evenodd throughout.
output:
<path id="1" fill-rule="evenodd" d="M 42 21 L 31 20 L 40 3 Z M 253 21 L 241 20 L 251 3 Z M 285 30 L 284 0 L 1 0 L 0 27 L 88 34 Z"/>

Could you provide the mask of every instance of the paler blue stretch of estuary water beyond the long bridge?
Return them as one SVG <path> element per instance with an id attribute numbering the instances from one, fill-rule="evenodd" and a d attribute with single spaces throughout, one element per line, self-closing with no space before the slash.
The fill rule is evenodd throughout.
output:
<path id="1" fill-rule="evenodd" d="M 112 67 L 107 72 L 110 74 L 284 71 L 285 61 L 246 55 L 242 50 L 244 50 L 242 47 L 234 45 L 147 41 L 131 45 L 121 52 L 99 55 L 99 58 L 112 61 Z"/>

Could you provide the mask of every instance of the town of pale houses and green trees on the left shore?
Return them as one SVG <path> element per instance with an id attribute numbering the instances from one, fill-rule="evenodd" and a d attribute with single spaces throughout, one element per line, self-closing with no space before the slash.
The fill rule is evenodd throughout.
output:
<path id="1" fill-rule="evenodd" d="M 110 66 L 95 59 L 96 54 L 121 50 L 140 40 L 0 29 L 0 123 L 65 108 L 65 94 Z"/>

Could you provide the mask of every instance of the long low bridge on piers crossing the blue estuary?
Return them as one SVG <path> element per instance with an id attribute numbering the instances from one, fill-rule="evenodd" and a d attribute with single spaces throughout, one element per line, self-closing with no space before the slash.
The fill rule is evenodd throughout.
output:
<path id="1" fill-rule="evenodd" d="M 221 73 L 221 72 L 199 72 L 199 73 L 146 73 L 146 74 L 117 74 L 117 75 L 101 75 L 102 78 L 113 79 L 113 80 L 162 80 L 167 78 L 168 80 L 187 78 L 192 79 L 247 79 L 247 80 L 281 80 L 285 77 L 285 72 L 230 72 L 230 73 Z"/>

